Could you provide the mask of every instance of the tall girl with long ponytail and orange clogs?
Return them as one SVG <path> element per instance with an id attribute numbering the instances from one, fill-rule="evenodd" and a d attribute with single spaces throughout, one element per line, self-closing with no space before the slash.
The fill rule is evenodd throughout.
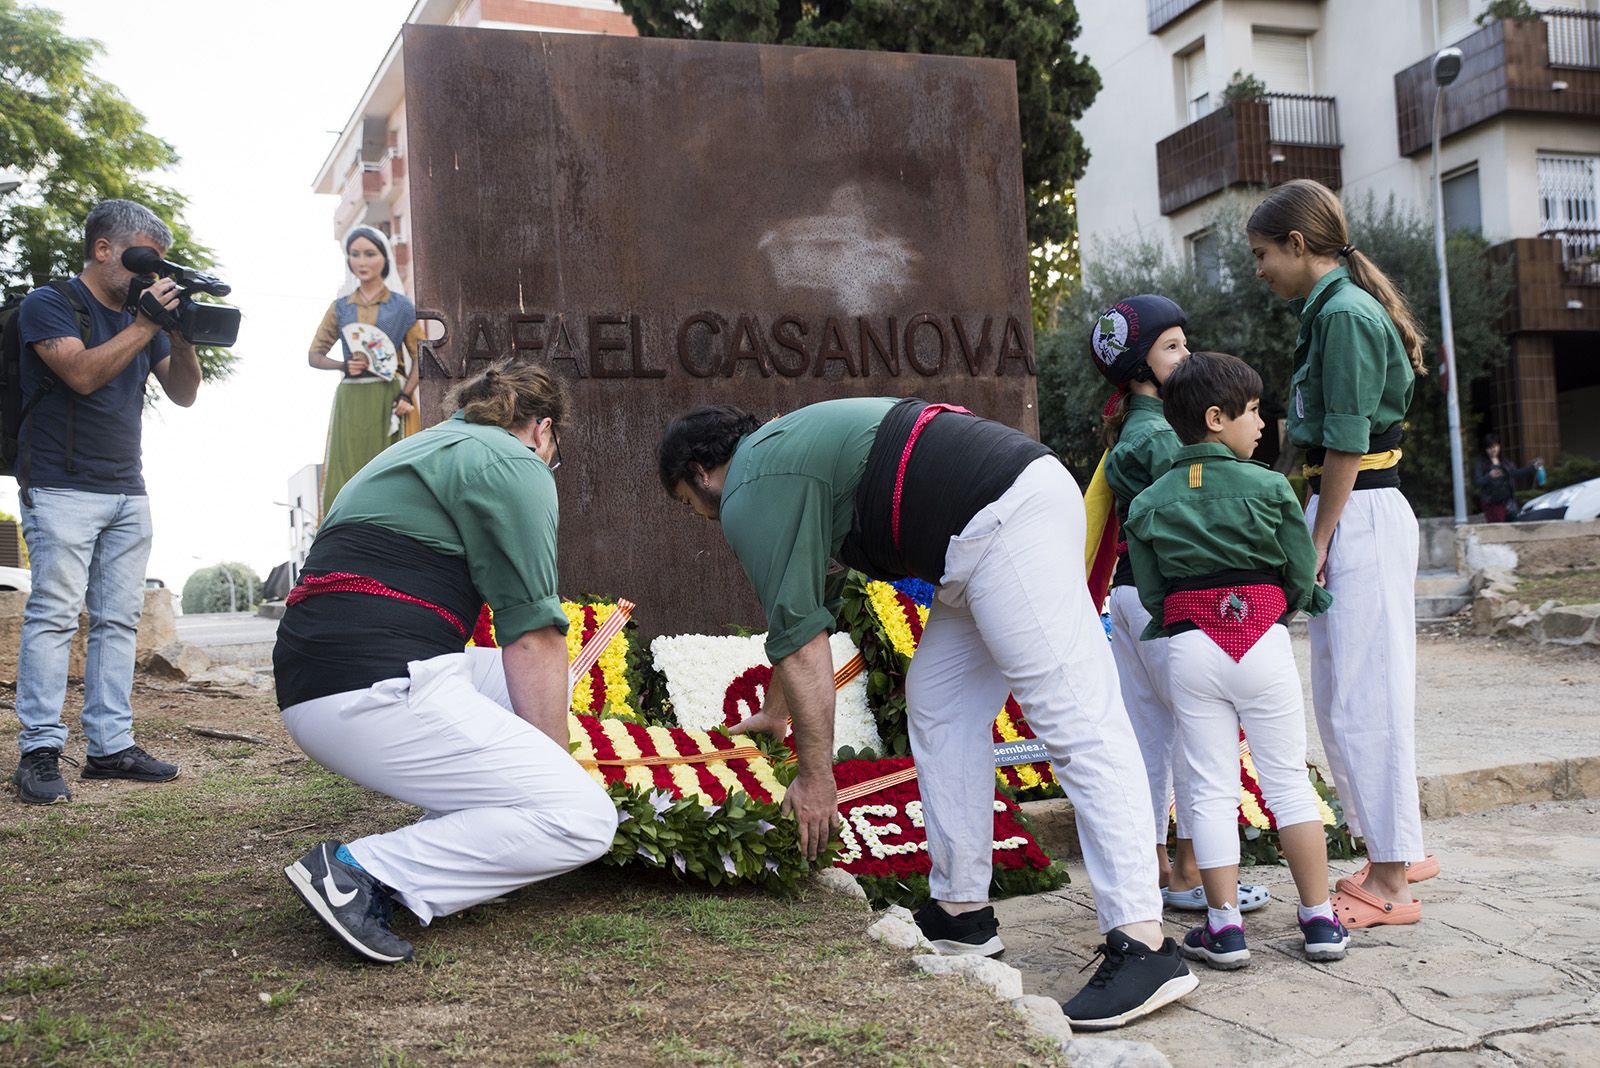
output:
<path id="1" fill-rule="evenodd" d="M 1405 412 L 1427 373 L 1422 331 L 1325 185 L 1278 185 L 1245 230 L 1256 275 L 1301 317 L 1288 436 L 1306 449 L 1306 521 L 1333 595 L 1309 622 L 1312 700 L 1350 833 L 1371 859 L 1339 879 L 1333 905 L 1346 927 L 1411 924 L 1422 905 L 1408 884 L 1438 871 L 1416 793 L 1418 524 L 1400 492 Z"/>

